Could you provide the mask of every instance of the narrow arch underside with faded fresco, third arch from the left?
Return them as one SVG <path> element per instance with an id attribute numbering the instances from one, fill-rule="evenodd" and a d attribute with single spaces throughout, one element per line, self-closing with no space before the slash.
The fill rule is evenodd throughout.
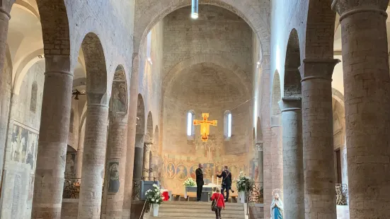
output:
<path id="1" fill-rule="evenodd" d="M 113 78 L 113 86 L 110 97 L 111 114 L 127 114 L 127 81 L 125 69 L 122 65 L 117 66 Z"/>

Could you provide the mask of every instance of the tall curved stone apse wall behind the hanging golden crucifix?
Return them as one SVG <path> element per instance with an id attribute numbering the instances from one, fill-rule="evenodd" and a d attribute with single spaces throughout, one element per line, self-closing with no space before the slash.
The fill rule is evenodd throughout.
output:
<path id="1" fill-rule="evenodd" d="M 195 178 L 197 164 L 205 164 L 206 178 L 228 165 L 236 178 L 252 168 L 251 78 L 252 30 L 224 8 L 200 5 L 200 18 L 189 7 L 164 18 L 163 186 L 183 194 L 183 182 Z M 239 70 L 238 70 L 239 69 Z M 207 143 L 200 127 L 187 136 L 188 112 L 202 112 L 218 125 L 210 127 Z M 231 137 L 226 137 L 226 111 L 232 114 Z M 252 153 L 251 153 L 252 154 Z M 250 157 L 250 158 L 249 158 Z"/>

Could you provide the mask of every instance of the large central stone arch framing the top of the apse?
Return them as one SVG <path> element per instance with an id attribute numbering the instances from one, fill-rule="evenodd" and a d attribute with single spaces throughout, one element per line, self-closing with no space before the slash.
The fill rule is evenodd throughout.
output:
<path id="1" fill-rule="evenodd" d="M 141 45 L 141 42 L 147 37 L 148 32 L 159 20 L 169 13 L 176 11 L 178 8 L 190 6 L 190 4 L 191 1 L 187 0 L 151 0 L 149 1 L 148 7 L 137 7 L 136 5 L 136 16 L 134 18 L 134 51 L 139 50 L 139 45 Z M 254 0 L 201 0 L 199 1 L 199 4 L 219 6 L 236 13 L 236 15 L 240 16 L 248 23 L 258 37 L 260 42 L 260 54 L 268 54 L 269 35 L 266 30 L 269 30 L 270 27 L 268 18 L 266 18 L 268 13 L 265 13 L 269 8 L 269 3 L 267 3 L 267 1 L 262 5 L 260 1 Z M 261 9 L 259 10 L 259 8 Z"/>

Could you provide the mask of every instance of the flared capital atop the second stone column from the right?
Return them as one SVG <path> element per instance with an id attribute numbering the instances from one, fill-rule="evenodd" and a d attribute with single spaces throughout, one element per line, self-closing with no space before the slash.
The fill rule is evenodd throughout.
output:
<path id="1" fill-rule="evenodd" d="M 339 59 L 304 59 L 299 66 L 301 82 L 313 79 L 332 81 L 333 69 L 339 62 Z"/>

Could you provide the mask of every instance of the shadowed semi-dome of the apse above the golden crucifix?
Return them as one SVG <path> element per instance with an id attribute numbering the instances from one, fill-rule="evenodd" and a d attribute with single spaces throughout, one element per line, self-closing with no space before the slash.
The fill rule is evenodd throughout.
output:
<path id="1" fill-rule="evenodd" d="M 245 95 L 239 78 L 228 69 L 203 63 L 188 66 L 166 84 L 166 97 L 188 101 L 191 98 L 211 101 L 229 100 Z"/>

